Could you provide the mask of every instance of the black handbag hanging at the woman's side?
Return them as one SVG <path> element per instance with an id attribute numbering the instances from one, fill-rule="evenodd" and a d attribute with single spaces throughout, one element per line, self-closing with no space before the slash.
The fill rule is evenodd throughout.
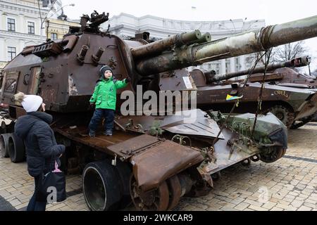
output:
<path id="1" fill-rule="evenodd" d="M 58 169 L 55 162 L 55 169 L 42 175 L 37 190 L 37 201 L 62 202 L 66 200 L 66 178 L 65 174 Z"/>

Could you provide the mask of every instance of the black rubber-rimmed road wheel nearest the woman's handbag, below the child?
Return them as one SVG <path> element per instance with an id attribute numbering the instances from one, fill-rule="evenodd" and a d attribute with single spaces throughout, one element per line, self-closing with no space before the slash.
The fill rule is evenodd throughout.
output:
<path id="1" fill-rule="evenodd" d="M 82 191 L 90 210 L 117 210 L 120 178 L 108 160 L 90 162 L 82 173 Z"/>

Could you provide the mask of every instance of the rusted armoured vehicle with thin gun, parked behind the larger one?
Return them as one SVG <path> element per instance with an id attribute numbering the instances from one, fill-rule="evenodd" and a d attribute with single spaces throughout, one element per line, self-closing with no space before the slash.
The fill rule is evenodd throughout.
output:
<path id="1" fill-rule="evenodd" d="M 286 68 L 300 67 L 308 65 L 308 63 L 309 58 L 304 57 L 268 65 L 268 72 L 264 77 L 266 84 L 263 87 L 260 113 L 273 113 L 291 129 L 296 129 L 311 121 L 317 110 L 316 79 L 311 77 L 304 79 L 304 75 Z M 243 96 L 234 113 L 256 113 L 264 70 L 264 67 L 259 67 L 253 71 L 243 70 L 226 75 L 216 75 L 212 71 L 193 70 L 191 75 L 198 85 L 197 105 L 204 110 L 213 109 L 229 113 L 235 104 L 226 99 L 227 94 L 230 94 L 231 96 Z M 230 80 L 230 78 L 249 73 L 251 76 L 244 88 L 242 88 L 244 79 Z"/>

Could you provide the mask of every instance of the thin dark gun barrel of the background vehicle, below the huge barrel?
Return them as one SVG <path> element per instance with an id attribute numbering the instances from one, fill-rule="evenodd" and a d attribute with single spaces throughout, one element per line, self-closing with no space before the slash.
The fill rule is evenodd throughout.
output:
<path id="1" fill-rule="evenodd" d="M 300 58 L 293 58 L 292 60 L 288 60 L 282 63 L 272 63 L 269 64 L 267 67 L 267 71 L 271 71 L 271 70 L 275 70 L 278 68 L 291 68 L 291 67 L 302 67 L 305 65 L 309 65 L 310 63 L 310 58 L 309 56 L 306 57 L 300 57 Z M 205 75 L 208 79 L 208 82 L 218 82 L 220 80 L 224 80 L 224 79 L 230 79 L 233 77 L 239 77 L 239 76 L 243 76 L 243 75 L 249 75 L 251 72 L 251 75 L 255 74 L 255 73 L 260 73 L 260 72 L 264 72 L 265 71 L 265 67 L 261 66 L 259 68 L 254 68 L 254 70 L 251 71 L 251 69 L 249 70 L 241 70 L 239 72 L 230 72 L 228 74 L 225 75 L 212 75 L 212 72 L 205 72 Z"/>

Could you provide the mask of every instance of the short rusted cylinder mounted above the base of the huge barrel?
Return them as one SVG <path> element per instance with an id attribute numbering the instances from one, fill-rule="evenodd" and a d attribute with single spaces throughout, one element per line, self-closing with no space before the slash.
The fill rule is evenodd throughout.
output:
<path id="1" fill-rule="evenodd" d="M 155 56 L 161 53 L 162 51 L 170 49 L 172 46 L 179 47 L 197 41 L 200 38 L 201 32 L 199 30 L 194 30 L 192 32 L 184 32 L 181 34 L 173 35 L 172 37 L 168 37 L 166 39 L 154 41 L 144 46 L 139 46 L 135 49 L 132 49 L 131 53 L 134 58 Z"/>

